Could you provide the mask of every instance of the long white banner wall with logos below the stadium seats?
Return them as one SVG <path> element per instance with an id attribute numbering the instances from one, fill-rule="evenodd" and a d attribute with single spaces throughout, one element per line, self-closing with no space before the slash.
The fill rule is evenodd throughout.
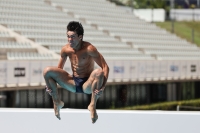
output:
<path id="1" fill-rule="evenodd" d="M 45 85 L 43 69 L 58 61 L 0 61 L 0 86 Z M 197 61 L 107 61 L 108 82 L 143 82 L 200 79 Z M 95 65 L 96 66 L 96 65 Z M 97 66 L 96 66 L 97 67 Z M 64 70 L 72 74 L 69 61 Z"/>

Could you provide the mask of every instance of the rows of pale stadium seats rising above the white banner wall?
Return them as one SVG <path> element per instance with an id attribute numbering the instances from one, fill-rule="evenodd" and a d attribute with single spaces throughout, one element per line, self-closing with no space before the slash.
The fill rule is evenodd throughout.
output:
<path id="1" fill-rule="evenodd" d="M 186 40 L 145 22 L 106 0 L 1 0 L 0 25 L 59 55 L 67 43 L 66 25 L 80 21 L 84 40 L 111 60 L 197 59 L 200 49 Z M 0 32 L 0 50 L 8 60 L 51 59 L 27 42 Z M 14 48 L 15 50 L 9 50 Z M 21 49 L 17 50 L 17 49 Z M 1 50 L 2 51 L 2 50 Z M 4 52 L 5 53 L 5 52 Z M 187 56 L 187 58 L 186 58 Z"/>

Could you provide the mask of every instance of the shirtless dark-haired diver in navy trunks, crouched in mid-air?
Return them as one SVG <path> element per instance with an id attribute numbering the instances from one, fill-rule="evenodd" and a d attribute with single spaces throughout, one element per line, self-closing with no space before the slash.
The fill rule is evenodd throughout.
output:
<path id="1" fill-rule="evenodd" d="M 57 83 L 64 89 L 74 93 L 92 94 L 88 109 L 92 123 L 98 119 L 96 102 L 103 93 L 109 73 L 109 67 L 103 56 L 89 42 L 83 41 L 84 29 L 79 22 L 67 25 L 68 44 L 62 47 L 58 67 L 44 69 L 46 90 L 52 96 L 56 117 L 60 120 L 60 109 L 64 103 L 57 94 Z M 63 70 L 69 57 L 73 74 Z M 101 68 L 94 69 L 94 62 Z"/>

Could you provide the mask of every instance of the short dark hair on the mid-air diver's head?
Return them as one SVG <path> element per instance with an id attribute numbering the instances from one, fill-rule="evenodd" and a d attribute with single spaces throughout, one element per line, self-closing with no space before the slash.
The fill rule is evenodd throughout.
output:
<path id="1" fill-rule="evenodd" d="M 69 24 L 67 25 L 67 31 L 74 31 L 78 34 L 78 36 L 84 34 L 82 24 L 76 21 L 69 22 Z"/>

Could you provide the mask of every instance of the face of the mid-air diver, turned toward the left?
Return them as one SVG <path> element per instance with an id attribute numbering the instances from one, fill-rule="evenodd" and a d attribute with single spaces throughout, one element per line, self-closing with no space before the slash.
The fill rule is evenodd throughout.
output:
<path id="1" fill-rule="evenodd" d="M 82 37 L 74 31 L 67 31 L 67 40 L 72 48 L 76 48 L 81 41 Z"/>

